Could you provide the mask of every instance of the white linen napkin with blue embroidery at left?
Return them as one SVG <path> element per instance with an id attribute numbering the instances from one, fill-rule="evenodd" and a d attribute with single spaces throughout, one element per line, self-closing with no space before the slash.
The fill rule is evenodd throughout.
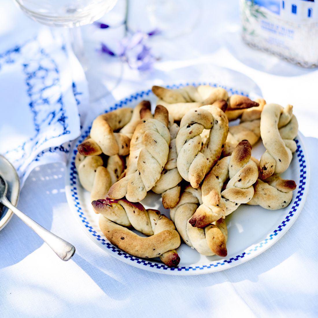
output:
<path id="1" fill-rule="evenodd" d="M 0 153 L 22 185 L 34 167 L 66 161 L 88 89 L 65 30 L 41 27 L 0 43 L 0 97 Z"/>

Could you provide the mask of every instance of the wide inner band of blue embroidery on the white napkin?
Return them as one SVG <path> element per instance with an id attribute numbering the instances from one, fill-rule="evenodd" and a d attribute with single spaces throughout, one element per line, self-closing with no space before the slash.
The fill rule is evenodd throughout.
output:
<path id="1" fill-rule="evenodd" d="M 22 62 L 23 52 L 28 52 L 28 50 L 31 50 L 32 57 Z M 3 64 L 13 63 L 21 63 L 34 125 L 34 134 L 27 141 L 4 153 L 19 171 L 25 164 L 25 159 L 31 153 L 36 152 L 45 142 L 70 134 L 70 131 L 66 122 L 60 73 L 52 56 L 34 38 L 0 54 L 0 71 Z M 75 83 L 73 83 L 74 86 L 76 87 Z M 74 91 L 74 88 L 73 92 L 75 98 L 76 95 L 81 94 Z M 78 99 L 76 102 L 79 104 Z M 47 129 L 50 126 L 52 128 Z"/>

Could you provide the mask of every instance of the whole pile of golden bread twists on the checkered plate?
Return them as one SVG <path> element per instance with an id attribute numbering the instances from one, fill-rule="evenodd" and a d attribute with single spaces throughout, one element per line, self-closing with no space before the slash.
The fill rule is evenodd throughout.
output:
<path id="1" fill-rule="evenodd" d="M 100 229 L 123 251 L 167 266 L 180 261 L 180 236 L 203 255 L 225 257 L 227 215 L 240 204 L 277 210 L 293 197 L 295 182 L 279 176 L 296 150 L 293 107 L 208 85 L 152 91 L 154 114 L 149 101 L 102 114 L 78 146 L 79 181 Z M 260 138 L 266 152 L 257 160 L 251 151 Z M 171 220 L 140 203 L 150 190 Z"/>

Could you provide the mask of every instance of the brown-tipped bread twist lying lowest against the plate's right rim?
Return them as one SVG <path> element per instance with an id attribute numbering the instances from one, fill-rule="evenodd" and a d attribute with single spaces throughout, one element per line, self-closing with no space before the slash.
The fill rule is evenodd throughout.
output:
<path id="1" fill-rule="evenodd" d="M 257 159 L 252 160 L 259 166 Z M 293 180 L 284 180 L 275 173 L 263 181 L 259 173 L 253 187 L 254 196 L 247 204 L 260 205 L 267 210 L 279 210 L 285 208 L 292 200 L 296 183 Z"/>

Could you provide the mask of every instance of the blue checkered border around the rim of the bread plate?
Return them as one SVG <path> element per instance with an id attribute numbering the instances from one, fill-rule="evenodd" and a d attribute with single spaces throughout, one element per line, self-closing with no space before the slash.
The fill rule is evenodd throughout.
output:
<path id="1" fill-rule="evenodd" d="M 217 84 L 205 83 L 205 82 L 204 83 L 186 83 L 185 85 L 184 84 L 171 85 L 171 86 L 168 85 L 166 87 L 167 88 L 179 88 L 179 87 L 188 86 L 188 85 L 198 86 L 198 85 L 206 85 L 206 84 L 214 86 L 214 87 L 218 87 Z M 243 92 L 239 92 L 237 90 L 233 90 L 230 87 L 226 87 L 226 86 L 220 86 L 220 87 L 225 88 L 228 92 L 230 92 L 232 94 L 241 94 L 241 95 L 248 96 L 248 94 L 243 93 Z M 144 95 L 148 96 L 150 93 L 151 93 L 151 89 L 149 89 L 147 91 L 135 93 L 135 94 L 131 95 L 130 97 L 119 101 L 113 107 L 110 107 L 109 110 L 112 111 L 114 109 L 117 109 L 119 107 L 127 105 L 128 102 L 132 102 L 133 100 L 143 98 Z M 105 111 L 105 113 L 107 113 L 107 110 Z M 78 141 L 78 144 L 81 143 L 89 135 L 90 129 L 91 129 L 91 126 L 87 128 L 87 130 L 83 133 L 83 135 L 81 135 L 81 137 Z M 266 239 L 264 239 L 258 245 L 255 245 L 248 252 L 243 252 L 242 254 L 237 255 L 235 257 L 231 257 L 229 259 L 224 259 L 223 261 L 213 262 L 212 264 L 209 264 L 209 265 L 195 266 L 195 267 L 192 267 L 192 266 L 189 266 L 189 267 L 186 267 L 186 266 L 168 267 L 164 264 L 158 264 L 154 261 L 151 262 L 149 260 L 139 259 L 138 257 L 129 255 L 128 253 L 121 251 L 119 248 L 115 247 L 114 245 L 109 243 L 107 240 L 102 238 L 99 234 L 97 234 L 97 232 L 93 229 L 93 227 L 90 225 L 89 221 L 87 221 L 86 217 L 84 216 L 84 212 L 82 211 L 81 205 L 79 203 L 79 197 L 78 197 L 78 193 L 77 193 L 77 172 L 76 172 L 76 168 L 75 168 L 75 156 L 76 156 L 77 150 L 74 150 L 74 153 L 73 153 L 72 162 L 71 162 L 71 172 L 70 172 L 70 185 L 71 185 L 73 203 L 74 203 L 74 206 L 78 212 L 79 218 L 81 218 L 82 222 L 84 223 L 84 225 L 88 229 L 88 231 L 98 241 L 100 241 L 101 244 L 105 245 L 109 250 L 111 250 L 111 252 L 114 252 L 117 255 L 124 257 L 125 259 L 129 259 L 132 262 L 136 262 L 136 263 L 142 264 L 144 266 L 156 267 L 158 269 L 168 270 L 168 271 L 197 271 L 197 270 L 209 269 L 212 267 L 224 266 L 226 264 L 230 264 L 232 262 L 238 261 L 239 259 L 243 259 L 246 255 L 250 255 L 256 251 L 259 251 L 259 249 L 264 247 L 264 245 L 266 245 L 270 240 L 272 240 L 275 236 L 279 235 L 279 233 L 283 229 L 283 227 L 286 226 L 287 222 L 289 222 L 290 219 L 294 216 L 294 212 L 297 210 L 297 207 L 299 206 L 299 203 L 300 203 L 302 196 L 303 196 L 303 193 L 304 193 L 305 184 L 306 184 L 306 173 L 307 173 L 306 162 L 304 159 L 303 151 L 301 149 L 299 141 L 296 139 L 295 142 L 297 144 L 296 154 L 298 157 L 298 162 L 299 162 L 299 167 L 300 167 L 300 184 L 298 186 L 297 196 L 295 198 L 293 206 L 291 207 L 291 210 L 287 213 L 285 220 L 282 221 L 282 223 L 273 231 L 273 233 L 271 233 Z"/>

